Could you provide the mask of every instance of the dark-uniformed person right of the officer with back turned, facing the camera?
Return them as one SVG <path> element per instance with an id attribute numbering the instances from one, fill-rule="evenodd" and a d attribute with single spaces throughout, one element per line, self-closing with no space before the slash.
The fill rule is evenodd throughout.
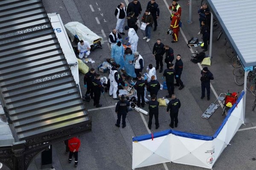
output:
<path id="1" fill-rule="evenodd" d="M 176 72 L 175 79 L 176 79 L 176 83 L 174 85 L 175 86 L 180 86 L 179 90 L 184 88 L 183 82 L 180 79 L 181 74 L 182 74 L 182 70 L 183 70 L 183 62 L 181 60 L 180 54 L 178 54 L 176 62 L 175 62 L 175 72 Z"/>

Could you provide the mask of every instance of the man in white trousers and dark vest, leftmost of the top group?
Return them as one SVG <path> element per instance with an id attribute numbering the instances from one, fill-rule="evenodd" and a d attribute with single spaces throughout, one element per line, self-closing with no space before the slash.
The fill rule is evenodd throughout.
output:
<path id="1" fill-rule="evenodd" d="M 124 3 L 120 3 L 119 6 L 117 6 L 115 11 L 115 16 L 117 19 L 116 31 L 118 31 L 122 35 L 125 35 L 125 33 L 123 32 L 123 26 L 124 26 L 125 17 L 126 17 L 126 8 Z"/>

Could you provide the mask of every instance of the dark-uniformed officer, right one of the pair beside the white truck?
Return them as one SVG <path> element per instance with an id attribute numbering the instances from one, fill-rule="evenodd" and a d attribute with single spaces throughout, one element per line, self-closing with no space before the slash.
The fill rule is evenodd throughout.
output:
<path id="1" fill-rule="evenodd" d="M 96 108 L 102 107 L 102 105 L 99 104 L 100 92 L 104 94 L 104 88 L 99 80 L 99 76 L 99 74 L 96 74 L 95 79 L 93 80 L 93 106 L 96 106 Z"/>

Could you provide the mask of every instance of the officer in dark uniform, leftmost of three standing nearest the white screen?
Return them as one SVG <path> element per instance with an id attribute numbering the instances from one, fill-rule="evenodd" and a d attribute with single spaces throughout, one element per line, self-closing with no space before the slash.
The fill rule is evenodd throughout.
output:
<path id="1" fill-rule="evenodd" d="M 121 100 L 119 100 L 116 104 L 116 113 L 117 113 L 117 120 L 116 120 L 116 126 L 120 127 L 120 121 L 121 121 L 121 116 L 122 116 L 122 128 L 125 128 L 126 123 L 125 123 L 125 118 L 128 112 L 128 108 L 130 106 L 130 103 L 125 100 L 125 96 L 121 96 Z"/>

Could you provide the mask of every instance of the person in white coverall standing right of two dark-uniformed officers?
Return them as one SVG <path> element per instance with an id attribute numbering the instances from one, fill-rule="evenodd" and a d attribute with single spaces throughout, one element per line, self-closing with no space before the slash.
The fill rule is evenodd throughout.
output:
<path id="1" fill-rule="evenodd" d="M 116 92 L 117 92 L 117 86 L 119 85 L 119 74 L 117 72 L 117 69 L 120 67 L 119 64 L 117 64 L 115 67 L 111 67 L 109 70 L 109 80 L 110 80 L 110 88 L 109 88 L 109 96 L 113 95 L 113 99 L 118 100 Z"/>

